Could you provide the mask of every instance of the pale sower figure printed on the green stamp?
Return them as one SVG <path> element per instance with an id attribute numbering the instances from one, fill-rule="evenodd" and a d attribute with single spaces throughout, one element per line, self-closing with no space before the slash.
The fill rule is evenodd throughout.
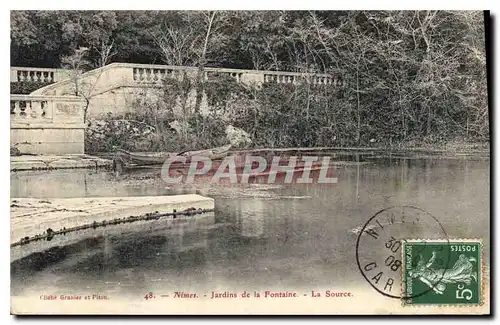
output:
<path id="1" fill-rule="evenodd" d="M 453 267 L 449 270 L 433 269 L 432 264 L 436 259 L 436 252 L 432 252 L 432 256 L 427 263 L 419 256 L 415 269 L 409 271 L 412 278 L 418 278 L 420 281 L 428 285 L 437 294 L 443 294 L 446 290 L 446 284 L 464 283 L 470 285 L 472 279 L 477 281 L 477 273 L 473 271 L 472 263 L 477 262 L 474 257 L 466 257 L 461 254 Z"/>

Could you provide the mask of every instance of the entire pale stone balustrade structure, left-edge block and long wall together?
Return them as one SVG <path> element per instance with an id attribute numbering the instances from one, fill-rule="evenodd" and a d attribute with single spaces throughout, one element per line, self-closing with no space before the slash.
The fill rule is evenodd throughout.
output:
<path id="1" fill-rule="evenodd" d="M 205 80 L 216 76 L 234 78 L 249 86 L 267 83 L 340 87 L 339 78 L 329 74 L 284 71 L 205 68 Z M 47 82 L 30 95 L 11 95 L 11 145 L 24 153 L 67 154 L 84 152 L 83 118 L 88 98 L 88 116 L 95 118 L 109 113 L 122 114 L 135 107 L 137 98 L 155 98 L 162 80 L 196 78 L 196 67 L 112 63 L 80 75 L 75 94 L 75 81 L 69 70 L 42 68 L 11 68 L 11 82 Z M 195 94 L 190 94 L 193 99 Z M 205 96 L 205 94 L 203 95 Z M 191 102 L 191 101 L 190 101 Z M 194 101 L 192 101 L 194 102 Z M 205 107 L 202 100 L 202 109 Z"/>

